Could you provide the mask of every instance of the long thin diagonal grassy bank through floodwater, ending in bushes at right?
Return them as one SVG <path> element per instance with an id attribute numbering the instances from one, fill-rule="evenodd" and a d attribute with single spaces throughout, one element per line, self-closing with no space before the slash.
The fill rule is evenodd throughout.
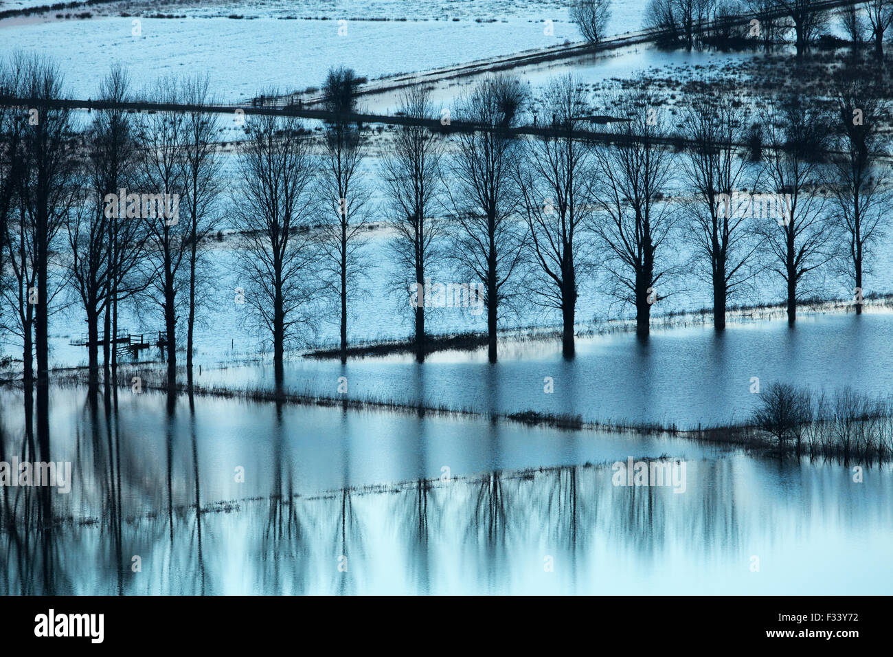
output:
<path id="1" fill-rule="evenodd" d="M 68 385 L 88 383 L 83 372 L 71 371 L 60 382 Z M 119 373 L 119 389 L 133 391 L 129 374 Z M 142 370 L 140 391 L 170 392 L 161 372 Z M 548 426 L 567 431 L 602 431 L 629 434 L 672 435 L 701 442 L 740 445 L 748 449 L 780 456 L 839 457 L 887 461 L 893 456 L 893 396 L 871 396 L 845 387 L 836 392 L 813 392 L 788 383 L 771 383 L 757 396 L 754 411 L 746 422 L 727 425 L 698 425 L 680 429 L 675 423 L 623 422 L 610 419 L 585 419 L 581 415 L 546 413 L 537 410 L 487 412 L 475 409 L 410 403 L 393 399 L 326 396 L 311 392 L 263 386 L 241 389 L 223 385 L 180 385 L 174 392 L 204 397 L 335 407 L 351 410 L 388 410 L 412 413 L 419 417 L 469 417 L 492 422 L 517 422 L 530 426 Z"/>

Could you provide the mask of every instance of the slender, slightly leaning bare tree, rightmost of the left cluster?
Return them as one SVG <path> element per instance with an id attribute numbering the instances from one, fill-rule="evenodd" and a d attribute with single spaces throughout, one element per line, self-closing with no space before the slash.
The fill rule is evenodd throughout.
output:
<path id="1" fill-rule="evenodd" d="M 210 101 L 207 75 L 183 80 L 183 102 L 201 108 Z M 186 325 L 186 371 L 192 384 L 192 356 L 196 307 L 200 305 L 197 291 L 200 287 L 201 257 L 204 240 L 216 230 L 219 215 L 217 198 L 222 190 L 221 158 L 217 154 L 216 114 L 193 109 L 186 115 L 183 139 L 183 177 L 185 179 L 184 205 L 188 220 L 189 244 L 189 307 Z"/>

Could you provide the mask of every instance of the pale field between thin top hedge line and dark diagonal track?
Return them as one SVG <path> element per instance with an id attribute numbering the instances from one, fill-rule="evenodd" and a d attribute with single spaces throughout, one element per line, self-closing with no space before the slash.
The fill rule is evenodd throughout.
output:
<path id="1" fill-rule="evenodd" d="M 348 22 L 346 35 L 339 37 L 335 21 L 133 20 L 141 21 L 138 37 L 131 35 L 131 19 L 103 18 L 0 25 L 0 39 L 6 52 L 39 45 L 41 53 L 58 59 L 76 97 L 95 95 L 117 61 L 138 86 L 163 75 L 208 72 L 215 95 L 238 101 L 268 88 L 292 92 L 319 86 L 339 64 L 373 79 L 574 38 L 567 23 L 556 24 L 555 36 L 546 37 L 541 25 L 527 21 L 357 21 Z"/>

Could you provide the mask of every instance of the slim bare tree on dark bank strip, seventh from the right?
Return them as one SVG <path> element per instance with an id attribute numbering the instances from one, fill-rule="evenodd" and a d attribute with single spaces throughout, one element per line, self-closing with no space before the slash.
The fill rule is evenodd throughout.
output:
<path id="1" fill-rule="evenodd" d="M 430 92 L 411 87 L 400 99 L 400 113 L 423 121 L 432 118 Z M 405 125 L 397 131 L 391 156 L 381 163 L 388 195 L 388 215 L 396 232 L 392 254 L 398 275 L 404 281 L 424 285 L 432 260 L 438 257 L 437 242 L 443 223 L 435 218 L 441 209 L 443 143 L 436 132 L 421 125 Z M 406 286 L 406 298 L 410 296 Z M 425 359 L 424 304 L 413 308 L 415 358 Z"/>

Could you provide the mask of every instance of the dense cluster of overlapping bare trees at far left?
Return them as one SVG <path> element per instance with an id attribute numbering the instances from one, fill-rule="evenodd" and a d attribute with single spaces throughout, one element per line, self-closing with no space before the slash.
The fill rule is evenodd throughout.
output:
<path id="1" fill-rule="evenodd" d="M 21 339 L 26 381 L 35 356 L 38 380 L 46 376 L 47 318 L 71 297 L 86 317 L 90 378 L 97 380 L 100 346 L 107 375 L 117 364 L 119 304 L 138 295 L 162 310 L 173 384 L 184 307 L 191 370 L 200 248 L 219 219 L 217 119 L 198 111 L 134 116 L 109 105 L 84 122 L 53 103 L 63 97 L 54 63 L 16 54 L 2 77 L 11 96 L 28 99 L 27 107 L 4 107 L 0 131 L 0 321 Z M 206 78 L 159 80 L 151 93 L 196 106 L 209 100 Z M 133 98 L 123 69 L 113 67 L 100 97 Z M 139 190 L 152 191 L 149 203 Z"/>

